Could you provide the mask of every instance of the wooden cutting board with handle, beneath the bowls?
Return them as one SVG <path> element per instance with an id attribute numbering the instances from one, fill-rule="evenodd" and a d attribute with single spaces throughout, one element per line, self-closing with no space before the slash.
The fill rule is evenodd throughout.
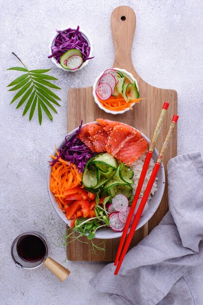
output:
<path id="1" fill-rule="evenodd" d="M 150 139 L 156 125 L 160 110 L 165 101 L 169 102 L 168 114 L 165 118 L 156 148 L 160 150 L 173 114 L 177 114 L 177 92 L 175 90 L 160 89 L 146 83 L 135 71 L 131 59 L 131 48 L 135 33 L 135 12 L 128 6 L 117 7 L 111 15 L 111 30 L 115 46 L 115 61 L 112 67 L 126 69 L 133 74 L 139 86 L 140 97 L 147 99 L 135 104 L 133 110 L 124 114 L 107 114 L 102 111 L 94 102 L 92 87 L 71 88 L 68 91 L 68 132 L 83 123 L 95 121 L 102 117 L 110 120 L 117 120 L 134 126 L 136 129 L 147 135 Z M 123 40 L 123 38 L 125 38 Z M 141 55 L 140 55 L 141 56 Z M 95 58 L 94 60 L 96 60 Z M 111 67 L 106 67 L 106 69 Z M 79 105 L 79 107 L 78 107 Z M 164 167 L 167 177 L 167 163 L 169 159 L 177 154 L 177 130 L 175 130 L 168 151 L 164 157 Z M 158 210 L 154 213 L 149 222 L 135 232 L 131 248 L 141 241 L 150 231 L 159 224 L 168 211 L 168 184 Z M 83 241 L 87 241 L 83 237 Z M 95 256 L 88 244 L 78 241 L 72 242 L 67 247 L 67 258 L 71 261 L 114 261 L 118 249 L 119 238 L 106 241 L 105 254 L 101 251 Z M 95 244 L 101 243 L 101 239 L 94 239 Z"/>

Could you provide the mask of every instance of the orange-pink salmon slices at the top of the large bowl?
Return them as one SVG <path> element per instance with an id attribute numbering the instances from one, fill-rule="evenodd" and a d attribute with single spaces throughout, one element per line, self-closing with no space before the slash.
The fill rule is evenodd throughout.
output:
<path id="1" fill-rule="evenodd" d="M 108 152 L 127 165 L 134 163 L 148 148 L 148 142 L 135 128 L 107 119 L 85 125 L 78 138 L 92 152 Z"/>

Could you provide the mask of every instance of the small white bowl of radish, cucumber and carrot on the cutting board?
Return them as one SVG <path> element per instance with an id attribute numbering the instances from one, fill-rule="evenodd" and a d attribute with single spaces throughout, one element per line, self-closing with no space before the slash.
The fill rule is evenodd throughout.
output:
<path id="1" fill-rule="evenodd" d="M 109 114 L 123 114 L 139 103 L 139 87 L 135 77 L 124 69 L 106 69 L 93 85 L 95 103 Z"/>

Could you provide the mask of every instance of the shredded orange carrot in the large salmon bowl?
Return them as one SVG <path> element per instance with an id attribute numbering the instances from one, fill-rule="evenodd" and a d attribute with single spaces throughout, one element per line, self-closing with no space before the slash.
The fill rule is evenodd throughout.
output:
<path id="1" fill-rule="evenodd" d="M 51 156 L 51 158 L 56 159 L 56 156 Z M 63 195 L 64 191 L 80 186 L 81 181 L 82 173 L 78 172 L 75 164 L 69 164 L 69 162 L 59 158 L 56 164 L 51 167 L 50 190 L 54 194 L 60 209 L 64 210 L 63 207 L 67 204 L 64 201 L 64 198 L 66 198 Z"/>

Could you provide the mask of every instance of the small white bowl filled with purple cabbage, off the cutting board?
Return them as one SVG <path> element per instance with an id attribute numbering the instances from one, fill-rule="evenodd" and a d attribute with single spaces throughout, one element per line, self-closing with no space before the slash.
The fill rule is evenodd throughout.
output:
<path id="1" fill-rule="evenodd" d="M 52 62 L 66 72 L 83 69 L 92 59 L 92 42 L 89 36 L 75 27 L 56 30 L 49 45 L 49 56 Z"/>

